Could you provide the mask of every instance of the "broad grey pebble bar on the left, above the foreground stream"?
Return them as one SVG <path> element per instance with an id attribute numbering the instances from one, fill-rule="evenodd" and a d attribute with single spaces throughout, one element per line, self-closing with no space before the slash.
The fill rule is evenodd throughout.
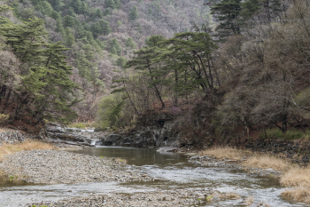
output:
<path id="1" fill-rule="evenodd" d="M 123 160 L 60 150 L 31 150 L 7 155 L 0 169 L 11 179 L 35 184 L 151 180 Z"/>

